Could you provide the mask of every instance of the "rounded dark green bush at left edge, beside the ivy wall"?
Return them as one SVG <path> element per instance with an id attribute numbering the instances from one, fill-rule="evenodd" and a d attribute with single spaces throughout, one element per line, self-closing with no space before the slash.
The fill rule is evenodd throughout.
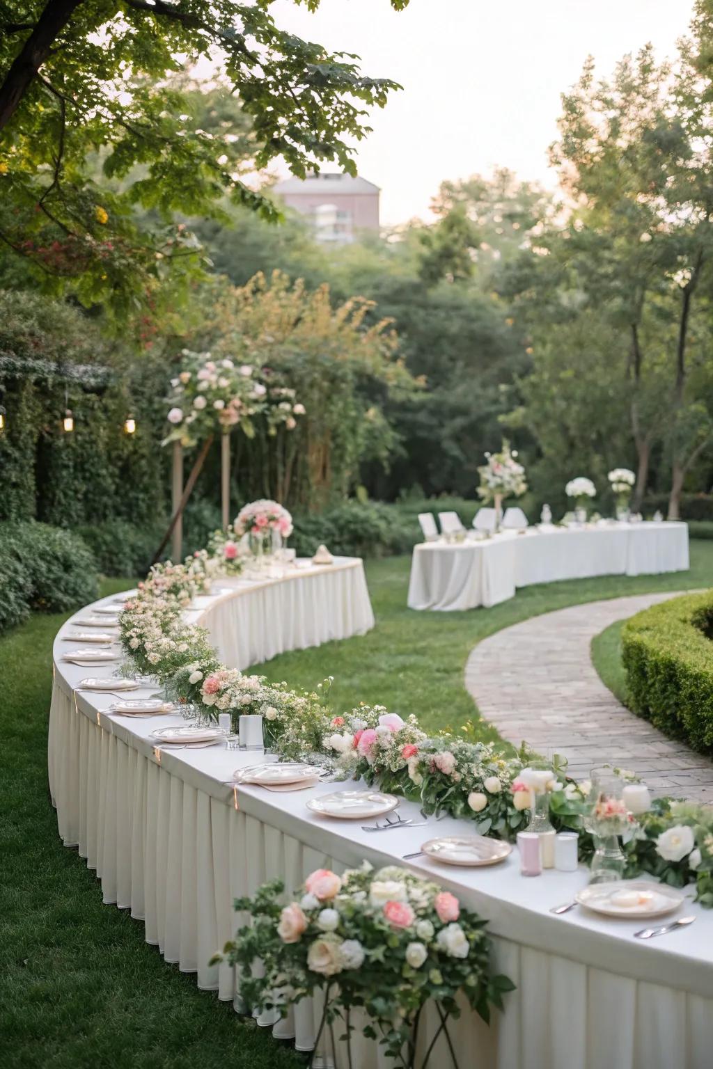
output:
<path id="1" fill-rule="evenodd" d="M 0 524 L 0 631 L 31 609 L 66 613 L 96 592 L 94 557 L 76 534 L 33 521 Z"/>

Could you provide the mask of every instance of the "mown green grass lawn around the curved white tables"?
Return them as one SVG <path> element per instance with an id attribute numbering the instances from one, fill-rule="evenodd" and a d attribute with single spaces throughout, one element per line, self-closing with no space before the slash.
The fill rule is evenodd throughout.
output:
<path id="1" fill-rule="evenodd" d="M 692 544 L 692 570 L 531 587 L 493 609 L 412 613 L 408 560 L 370 562 L 377 618 L 362 638 L 289 653 L 273 679 L 336 677 L 335 703 L 381 701 L 431 727 L 476 715 L 463 688 L 469 650 L 518 620 L 577 602 L 707 586 L 713 542 Z M 105 592 L 130 582 L 112 580 Z M 3 1069 L 283 1069 L 304 1062 L 230 1005 L 166 965 L 143 926 L 102 904 L 99 885 L 57 836 L 46 775 L 51 641 L 63 617 L 35 616 L 0 640 L 0 1066 Z M 516 651 L 513 651 L 516 655 Z M 495 738 L 487 727 L 482 735 Z"/>

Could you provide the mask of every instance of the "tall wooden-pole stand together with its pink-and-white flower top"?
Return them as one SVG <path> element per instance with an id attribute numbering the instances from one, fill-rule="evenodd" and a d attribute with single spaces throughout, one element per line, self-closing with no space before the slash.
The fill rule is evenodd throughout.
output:
<path id="1" fill-rule="evenodd" d="M 182 556 L 182 515 L 216 434 L 220 434 L 220 497 L 223 530 L 230 513 L 230 434 L 238 431 L 252 438 L 262 420 L 269 435 L 278 428 L 293 431 L 305 406 L 295 391 L 269 368 L 214 360 L 210 353 L 182 352 L 182 368 L 171 379 L 167 399 L 169 433 L 162 445 L 173 446 L 171 525 L 156 554 L 158 558 L 172 537 L 172 556 Z M 183 483 L 183 450 L 201 443 L 188 481 Z"/>

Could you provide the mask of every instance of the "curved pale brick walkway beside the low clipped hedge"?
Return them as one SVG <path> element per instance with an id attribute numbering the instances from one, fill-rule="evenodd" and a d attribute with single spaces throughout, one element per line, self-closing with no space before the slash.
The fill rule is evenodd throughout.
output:
<path id="1" fill-rule="evenodd" d="M 586 777 L 605 762 L 633 769 L 657 794 L 713 802 L 713 761 L 630 713 L 591 662 L 594 635 L 675 593 L 573 605 L 483 639 L 465 684 L 486 721 L 518 746 L 562 754 Z"/>

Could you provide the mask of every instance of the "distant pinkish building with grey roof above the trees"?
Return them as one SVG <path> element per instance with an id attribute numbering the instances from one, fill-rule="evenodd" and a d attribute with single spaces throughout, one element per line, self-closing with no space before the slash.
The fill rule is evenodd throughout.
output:
<path id="1" fill-rule="evenodd" d="M 275 192 L 312 220 L 317 242 L 348 245 L 360 230 L 378 231 L 378 186 L 366 179 L 321 171 L 278 182 Z"/>

